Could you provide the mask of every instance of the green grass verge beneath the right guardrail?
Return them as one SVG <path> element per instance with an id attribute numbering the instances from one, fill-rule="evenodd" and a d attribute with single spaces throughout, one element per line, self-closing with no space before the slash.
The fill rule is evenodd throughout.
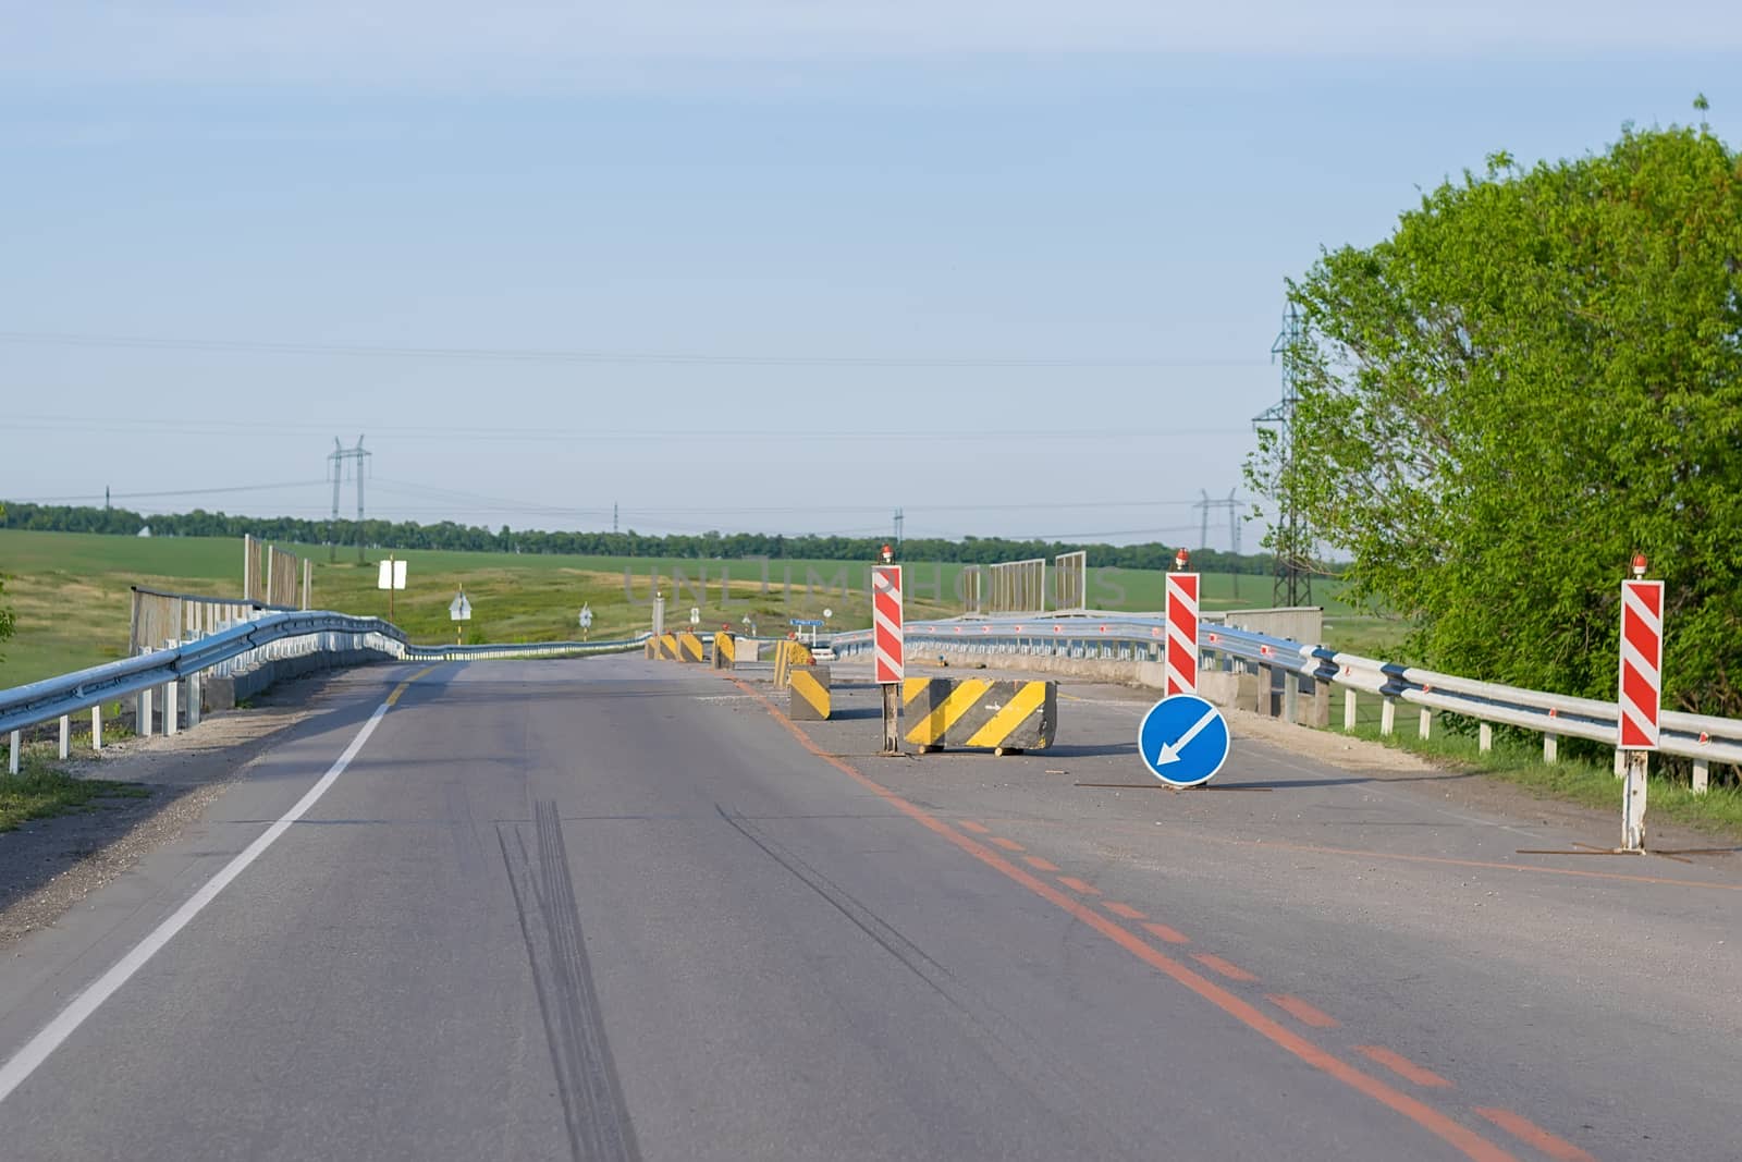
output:
<path id="1" fill-rule="evenodd" d="M 1333 707 L 1333 713 L 1338 709 Z M 1402 709 L 1409 713 L 1406 714 Z M 1617 829 L 1620 828 L 1622 784 L 1615 777 L 1611 765 L 1578 758 L 1543 763 L 1540 737 L 1512 737 L 1502 730 L 1495 732 L 1493 749 L 1484 753 L 1479 749 L 1474 735 L 1444 730 L 1439 716 L 1434 718 L 1432 735 L 1421 739 L 1416 733 L 1416 716 L 1413 711 L 1415 707 L 1401 707 L 1397 733 L 1390 737 L 1380 735 L 1378 721 L 1361 721 L 1350 733 L 1359 739 L 1421 754 L 1451 770 L 1502 779 L 1540 800 L 1580 803 L 1613 812 L 1615 826 Z M 1374 713 L 1376 718 L 1378 714 Z M 1338 730 L 1338 733 L 1343 732 Z M 1693 787 L 1686 782 L 1665 779 L 1653 772 L 1646 808 L 1648 833 L 1651 821 L 1671 821 L 1730 840 L 1742 840 L 1742 787 L 1714 784 L 1705 794 L 1695 794 Z"/>

